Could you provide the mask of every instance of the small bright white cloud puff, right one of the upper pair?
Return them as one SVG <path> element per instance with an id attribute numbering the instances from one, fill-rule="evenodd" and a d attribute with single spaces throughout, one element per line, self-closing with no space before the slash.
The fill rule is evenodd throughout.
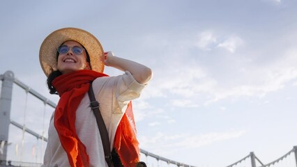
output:
<path id="1" fill-rule="evenodd" d="M 234 53 L 236 49 L 241 45 L 243 45 L 243 40 L 238 36 L 233 36 L 228 38 L 227 40 L 224 40 L 218 45 L 218 47 L 222 47 L 223 49 L 227 49 L 231 53 Z"/>

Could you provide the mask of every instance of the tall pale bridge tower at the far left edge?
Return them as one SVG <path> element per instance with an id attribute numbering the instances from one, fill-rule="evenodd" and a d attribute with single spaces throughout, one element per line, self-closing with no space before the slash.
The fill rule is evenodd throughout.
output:
<path id="1" fill-rule="evenodd" d="M 1 75 L 2 88 L 0 95 L 0 166 L 6 166 L 8 130 L 10 125 L 10 106 L 13 95 L 13 72 Z"/>

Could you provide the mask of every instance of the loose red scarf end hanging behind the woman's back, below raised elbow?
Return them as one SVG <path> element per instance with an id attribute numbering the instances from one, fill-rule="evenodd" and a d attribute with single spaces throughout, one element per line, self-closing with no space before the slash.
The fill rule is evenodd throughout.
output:
<path id="1" fill-rule="evenodd" d="M 116 129 L 114 148 L 119 154 L 123 166 L 136 166 L 136 163 L 139 161 L 140 149 L 136 138 L 136 128 L 131 102 L 128 104 L 123 118 Z"/>

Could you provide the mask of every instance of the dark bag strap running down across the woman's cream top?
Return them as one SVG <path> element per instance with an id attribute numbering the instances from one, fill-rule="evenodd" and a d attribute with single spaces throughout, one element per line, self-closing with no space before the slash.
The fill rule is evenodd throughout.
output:
<path id="1" fill-rule="evenodd" d="M 104 149 L 104 154 L 105 154 L 105 161 L 107 162 L 108 166 L 112 166 L 112 154 L 110 151 L 110 142 L 109 142 L 109 136 L 108 132 L 105 126 L 105 122 L 102 118 L 102 115 L 100 113 L 99 109 L 99 102 L 96 100 L 94 92 L 93 92 L 93 86 L 92 82 L 90 83 L 90 88 L 88 91 L 89 98 L 90 98 L 90 107 L 93 110 L 93 113 L 96 117 L 96 122 L 99 128 L 100 136 L 101 136 L 101 141 Z"/>

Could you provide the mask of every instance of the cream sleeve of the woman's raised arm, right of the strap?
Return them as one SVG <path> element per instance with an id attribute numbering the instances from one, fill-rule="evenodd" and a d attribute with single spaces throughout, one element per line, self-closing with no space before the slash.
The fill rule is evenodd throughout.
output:
<path id="1" fill-rule="evenodd" d="M 127 104 L 139 97 L 144 87 L 128 71 L 117 77 L 101 77 L 93 81 L 93 90 L 100 103 L 100 112 L 109 133 L 111 147 Z"/>

